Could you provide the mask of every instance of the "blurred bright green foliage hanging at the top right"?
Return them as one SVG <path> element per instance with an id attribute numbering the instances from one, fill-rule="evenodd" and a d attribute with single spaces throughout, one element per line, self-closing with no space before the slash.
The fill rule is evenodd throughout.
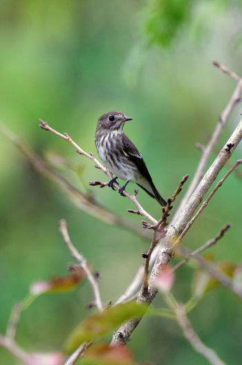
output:
<path id="1" fill-rule="evenodd" d="M 213 19 L 235 6 L 241 6 L 241 1 L 148 0 L 144 10 L 148 43 L 169 48 L 183 34 L 188 38 L 189 32 L 196 41 L 210 36 Z"/>

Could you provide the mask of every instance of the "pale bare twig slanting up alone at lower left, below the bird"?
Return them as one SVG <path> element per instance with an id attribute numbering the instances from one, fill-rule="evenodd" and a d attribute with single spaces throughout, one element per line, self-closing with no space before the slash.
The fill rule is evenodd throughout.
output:
<path id="1" fill-rule="evenodd" d="M 61 232 L 62 237 L 64 239 L 64 243 L 66 243 L 66 246 L 68 247 L 68 250 L 71 251 L 71 254 L 74 257 L 74 259 L 80 264 L 80 267 L 83 270 L 85 270 L 86 277 L 89 280 L 89 283 L 91 283 L 91 287 L 93 288 L 93 295 L 94 295 L 94 298 L 95 298 L 95 305 L 97 306 L 98 310 L 102 311 L 103 310 L 103 305 L 102 305 L 102 300 L 101 300 L 101 297 L 100 297 L 100 291 L 99 291 L 99 288 L 98 288 L 97 281 L 93 277 L 93 274 L 91 273 L 91 270 L 89 270 L 89 267 L 86 264 L 86 259 L 84 259 L 84 256 L 82 256 L 82 254 L 80 254 L 80 252 L 77 251 L 77 249 L 75 248 L 75 246 L 71 242 L 71 238 L 70 238 L 70 236 L 68 234 L 68 230 L 67 230 L 66 221 L 64 219 L 59 221 L 59 232 Z"/>

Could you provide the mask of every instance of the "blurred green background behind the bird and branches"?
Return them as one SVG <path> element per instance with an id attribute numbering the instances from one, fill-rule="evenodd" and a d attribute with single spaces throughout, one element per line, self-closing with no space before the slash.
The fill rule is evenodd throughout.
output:
<path id="1" fill-rule="evenodd" d="M 97 118 L 107 111 L 123 111 L 133 118 L 125 133 L 140 149 L 162 196 L 171 196 L 180 178 L 194 173 L 201 156 L 195 143 L 207 142 L 235 87 L 212 61 L 242 75 L 241 1 L 1 0 L 0 4 L 1 122 L 41 156 L 55 151 L 68 158 L 82 174 L 60 171 L 64 176 L 139 225 L 140 217 L 127 213 L 133 208 L 131 202 L 111 189 L 89 187 L 89 180 L 106 180 L 104 175 L 68 143 L 41 131 L 38 119 L 95 153 Z M 218 149 L 240 113 L 238 106 Z M 232 160 L 237 158 L 241 146 Z M 28 293 L 30 283 L 66 274 L 71 256 L 58 232 L 60 218 L 66 218 L 73 243 L 102 273 L 104 303 L 117 299 L 142 264 L 141 252 L 149 241 L 81 212 L 54 183 L 33 171 L 3 135 L 0 164 L 1 333 L 13 303 Z M 133 191 L 131 185 L 128 191 Z M 138 199 L 153 216 L 160 216 L 160 206 L 145 192 L 140 191 Z M 228 221 L 232 228 L 210 251 L 216 260 L 239 263 L 241 180 L 235 175 L 216 193 L 183 244 L 198 247 Z M 189 299 L 192 274 L 188 266 L 177 272 L 177 299 Z M 21 316 L 18 343 L 29 351 L 62 348 L 72 328 L 93 312 L 86 309 L 92 299 L 86 282 L 67 294 L 40 297 Z M 161 303 L 158 295 L 154 305 Z M 189 318 L 205 344 L 227 364 L 241 362 L 242 313 L 237 297 L 218 288 Z M 129 347 L 140 362 L 207 364 L 168 319 L 145 318 Z M 0 358 L 1 364 L 19 364 L 6 350 L 0 349 Z"/>

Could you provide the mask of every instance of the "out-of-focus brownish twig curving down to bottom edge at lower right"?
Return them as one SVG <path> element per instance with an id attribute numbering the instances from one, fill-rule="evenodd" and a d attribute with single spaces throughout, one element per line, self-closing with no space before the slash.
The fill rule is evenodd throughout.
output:
<path id="1" fill-rule="evenodd" d="M 212 348 L 205 346 L 205 344 L 203 344 L 198 335 L 196 335 L 189 319 L 185 315 L 184 306 L 179 305 L 176 308 L 176 318 L 178 319 L 178 324 L 180 324 L 180 328 L 182 328 L 183 330 L 183 335 L 197 353 L 200 353 L 212 365 L 225 365 L 225 363 L 222 362 L 222 360 L 218 357 L 216 352 L 212 350 Z"/>

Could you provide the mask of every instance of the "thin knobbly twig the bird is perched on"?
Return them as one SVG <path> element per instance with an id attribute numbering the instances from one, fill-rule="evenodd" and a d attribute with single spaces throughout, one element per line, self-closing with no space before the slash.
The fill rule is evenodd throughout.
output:
<path id="1" fill-rule="evenodd" d="M 100 169 L 104 172 L 104 174 L 106 174 L 107 176 L 109 176 L 109 179 L 112 177 L 111 173 L 106 169 L 106 167 L 104 167 L 104 165 L 102 165 L 97 158 L 95 158 L 95 156 L 93 155 L 93 153 L 87 153 L 86 151 L 84 151 L 71 137 L 70 135 L 68 135 L 67 133 L 59 133 L 58 131 L 56 131 L 55 129 L 51 128 L 47 122 L 44 122 L 44 120 L 39 120 L 40 125 L 39 127 L 41 129 L 44 129 L 45 131 L 50 131 L 51 133 L 58 135 L 58 137 L 63 138 L 64 140 L 68 141 L 69 143 L 71 143 L 73 145 L 73 147 L 75 147 L 76 152 L 79 153 L 80 155 L 83 155 L 87 158 L 89 158 L 90 160 L 92 160 L 95 163 L 95 167 L 97 167 L 97 169 Z M 89 182 L 90 184 L 90 182 Z M 91 182 L 90 185 L 101 185 L 102 187 L 106 186 L 107 183 L 106 182 L 99 182 L 99 181 L 94 181 Z M 116 187 L 117 189 L 120 189 L 120 185 L 118 185 L 118 182 L 114 182 L 113 183 L 113 187 Z M 123 191 L 124 196 L 127 196 L 127 198 L 129 198 L 134 205 L 136 205 L 136 207 L 138 208 L 140 215 L 144 216 L 145 218 L 147 218 L 151 223 L 156 224 L 157 221 L 155 218 L 153 218 L 149 213 L 147 213 L 145 211 L 145 209 L 143 209 L 143 207 L 140 205 L 140 203 L 138 203 L 138 200 L 136 198 L 137 193 L 135 192 L 135 194 L 131 195 L 129 194 L 127 191 Z"/>

